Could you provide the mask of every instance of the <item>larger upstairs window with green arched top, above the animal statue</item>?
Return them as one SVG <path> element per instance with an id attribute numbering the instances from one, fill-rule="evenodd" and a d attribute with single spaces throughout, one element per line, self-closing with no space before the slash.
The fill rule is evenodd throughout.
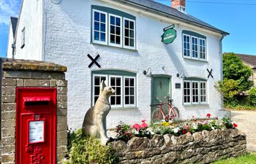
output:
<path id="1" fill-rule="evenodd" d="M 92 11 L 93 43 L 136 49 L 134 16 L 108 7 L 93 6 Z"/>

